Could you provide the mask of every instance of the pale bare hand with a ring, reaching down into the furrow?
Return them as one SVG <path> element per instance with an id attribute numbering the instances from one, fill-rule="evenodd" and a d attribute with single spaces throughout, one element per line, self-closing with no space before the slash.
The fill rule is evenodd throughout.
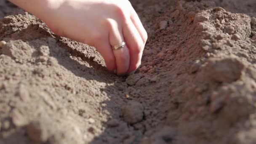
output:
<path id="1" fill-rule="evenodd" d="M 57 35 L 94 46 L 107 69 L 129 74 L 141 64 L 147 32 L 128 0 L 10 0 Z M 119 50 L 112 46 L 122 42 Z"/>

